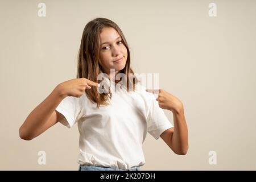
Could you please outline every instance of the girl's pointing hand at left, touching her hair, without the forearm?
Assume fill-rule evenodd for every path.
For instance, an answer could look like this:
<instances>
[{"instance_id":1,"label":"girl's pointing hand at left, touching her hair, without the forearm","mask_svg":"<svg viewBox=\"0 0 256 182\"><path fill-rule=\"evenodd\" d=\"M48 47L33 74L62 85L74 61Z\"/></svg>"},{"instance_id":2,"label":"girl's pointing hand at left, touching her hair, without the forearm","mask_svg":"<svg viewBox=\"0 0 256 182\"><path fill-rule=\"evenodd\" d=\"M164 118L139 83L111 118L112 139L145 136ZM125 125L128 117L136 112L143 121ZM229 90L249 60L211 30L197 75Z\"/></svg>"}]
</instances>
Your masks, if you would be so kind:
<instances>
[{"instance_id":1,"label":"girl's pointing hand at left, touching her hair, without the forearm","mask_svg":"<svg viewBox=\"0 0 256 182\"><path fill-rule=\"evenodd\" d=\"M86 78L74 78L60 83L56 88L61 96L65 98L67 96L81 97L85 89L91 89L91 86L99 87L100 84Z\"/></svg>"}]
</instances>

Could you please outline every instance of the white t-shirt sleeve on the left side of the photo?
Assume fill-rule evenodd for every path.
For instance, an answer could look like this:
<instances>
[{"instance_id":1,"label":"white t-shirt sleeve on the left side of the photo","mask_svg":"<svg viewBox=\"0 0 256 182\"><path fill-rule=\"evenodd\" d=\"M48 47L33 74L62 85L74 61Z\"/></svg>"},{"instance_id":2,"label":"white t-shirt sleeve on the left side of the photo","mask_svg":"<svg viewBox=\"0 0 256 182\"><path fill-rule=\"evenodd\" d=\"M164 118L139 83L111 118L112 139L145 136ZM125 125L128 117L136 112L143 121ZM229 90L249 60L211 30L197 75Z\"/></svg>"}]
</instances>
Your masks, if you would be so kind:
<instances>
[{"instance_id":1,"label":"white t-shirt sleeve on the left side of the photo","mask_svg":"<svg viewBox=\"0 0 256 182\"><path fill-rule=\"evenodd\" d=\"M64 126L71 128L82 116L83 110L83 97L65 97L60 104L56 107L56 111L64 115L64 118L59 121Z\"/></svg>"}]
</instances>

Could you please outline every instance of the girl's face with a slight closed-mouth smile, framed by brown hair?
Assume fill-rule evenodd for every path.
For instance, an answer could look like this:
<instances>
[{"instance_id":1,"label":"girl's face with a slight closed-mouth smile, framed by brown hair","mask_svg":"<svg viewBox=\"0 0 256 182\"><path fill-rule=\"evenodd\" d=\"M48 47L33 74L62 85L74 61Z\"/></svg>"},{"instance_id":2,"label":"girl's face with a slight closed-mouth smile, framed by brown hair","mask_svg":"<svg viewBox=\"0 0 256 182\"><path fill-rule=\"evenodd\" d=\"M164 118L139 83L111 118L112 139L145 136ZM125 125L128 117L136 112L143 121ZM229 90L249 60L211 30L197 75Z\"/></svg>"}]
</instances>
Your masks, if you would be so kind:
<instances>
[{"instance_id":1,"label":"girl's face with a slight closed-mouth smile, framed by brown hair","mask_svg":"<svg viewBox=\"0 0 256 182\"><path fill-rule=\"evenodd\" d=\"M112 27L102 28L100 34L100 62L106 74L115 69L115 74L125 68L127 49L121 36Z\"/></svg>"}]
</instances>

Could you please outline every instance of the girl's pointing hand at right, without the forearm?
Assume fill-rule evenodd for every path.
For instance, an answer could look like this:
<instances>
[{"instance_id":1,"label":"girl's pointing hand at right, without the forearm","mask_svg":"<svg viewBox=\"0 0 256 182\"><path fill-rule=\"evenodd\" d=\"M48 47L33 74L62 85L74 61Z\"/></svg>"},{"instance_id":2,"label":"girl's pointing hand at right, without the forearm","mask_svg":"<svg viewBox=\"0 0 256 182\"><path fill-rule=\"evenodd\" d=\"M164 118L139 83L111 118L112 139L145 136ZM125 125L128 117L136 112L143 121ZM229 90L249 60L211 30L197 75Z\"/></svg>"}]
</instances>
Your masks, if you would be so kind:
<instances>
[{"instance_id":1,"label":"girl's pointing hand at right, without the forearm","mask_svg":"<svg viewBox=\"0 0 256 182\"><path fill-rule=\"evenodd\" d=\"M156 101L158 101L158 105L162 109L168 109L172 112L175 111L176 113L179 113L179 111L183 109L182 102L177 97L163 89L146 89L146 91L150 93L158 93Z\"/></svg>"}]
</instances>

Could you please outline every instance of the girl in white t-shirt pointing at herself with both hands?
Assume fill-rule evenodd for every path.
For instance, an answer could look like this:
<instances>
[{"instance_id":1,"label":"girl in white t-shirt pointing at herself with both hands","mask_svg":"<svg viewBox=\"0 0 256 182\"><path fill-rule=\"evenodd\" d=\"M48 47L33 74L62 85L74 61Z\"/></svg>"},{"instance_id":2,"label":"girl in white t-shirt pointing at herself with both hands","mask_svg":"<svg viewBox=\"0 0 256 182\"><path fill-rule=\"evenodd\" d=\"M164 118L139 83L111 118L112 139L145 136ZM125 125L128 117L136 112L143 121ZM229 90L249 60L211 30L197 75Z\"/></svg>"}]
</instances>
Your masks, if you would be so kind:
<instances>
[{"instance_id":1,"label":"girl in white t-shirt pointing at herself with both hands","mask_svg":"<svg viewBox=\"0 0 256 182\"><path fill-rule=\"evenodd\" d=\"M77 78L57 85L28 115L20 138L31 140L57 122L69 128L77 122L81 171L139 170L145 164L147 132L161 137L175 154L187 153L183 104L165 90L146 89L137 77L131 79L129 47L112 20L96 18L86 24L77 65ZM122 81L115 79L119 73ZM172 111L174 126L162 109Z\"/></svg>"}]
</instances>

